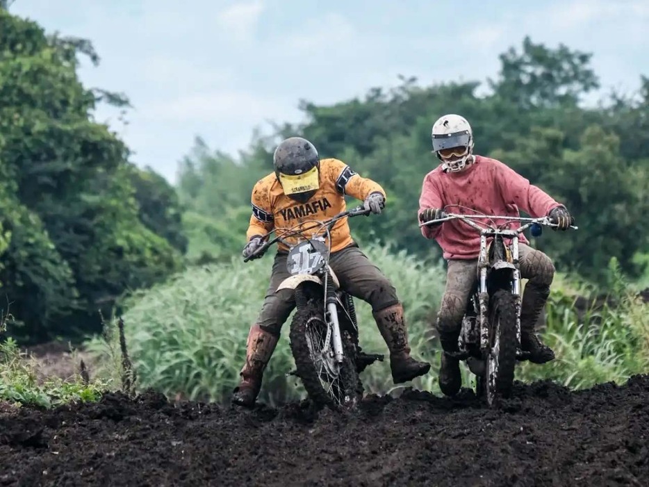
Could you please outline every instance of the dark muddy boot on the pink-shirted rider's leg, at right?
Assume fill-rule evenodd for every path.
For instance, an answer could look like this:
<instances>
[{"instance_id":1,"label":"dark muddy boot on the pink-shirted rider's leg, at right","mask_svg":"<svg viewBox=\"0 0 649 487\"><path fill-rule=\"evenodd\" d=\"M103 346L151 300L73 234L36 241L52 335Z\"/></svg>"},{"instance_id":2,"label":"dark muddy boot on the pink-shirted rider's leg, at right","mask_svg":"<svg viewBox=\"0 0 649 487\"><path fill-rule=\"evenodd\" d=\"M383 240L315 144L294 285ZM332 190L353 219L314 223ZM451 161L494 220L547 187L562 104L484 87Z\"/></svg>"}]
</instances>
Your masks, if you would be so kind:
<instances>
[{"instance_id":1,"label":"dark muddy boot on the pink-shirted rider's leg, at right","mask_svg":"<svg viewBox=\"0 0 649 487\"><path fill-rule=\"evenodd\" d=\"M529 361L545 363L554 360L554 352L534 333L536 322L550 295L550 286L528 281L520 305L520 348L529 352Z\"/></svg>"}]
</instances>

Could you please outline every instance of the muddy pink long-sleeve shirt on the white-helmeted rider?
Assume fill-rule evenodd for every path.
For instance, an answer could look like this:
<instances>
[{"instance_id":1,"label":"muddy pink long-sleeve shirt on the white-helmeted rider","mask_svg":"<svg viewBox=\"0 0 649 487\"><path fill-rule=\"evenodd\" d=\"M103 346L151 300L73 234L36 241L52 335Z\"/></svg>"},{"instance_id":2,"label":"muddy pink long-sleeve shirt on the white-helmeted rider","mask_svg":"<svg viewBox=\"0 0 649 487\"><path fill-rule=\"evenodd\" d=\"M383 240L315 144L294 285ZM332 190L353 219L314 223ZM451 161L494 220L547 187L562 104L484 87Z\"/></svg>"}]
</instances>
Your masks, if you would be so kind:
<instances>
[{"instance_id":1,"label":"muddy pink long-sleeve shirt on the white-helmeted rider","mask_svg":"<svg viewBox=\"0 0 649 487\"><path fill-rule=\"evenodd\" d=\"M536 218L556 206L561 205L500 160L484 156L475 156L475 162L462 172L443 172L441 166L436 167L426 174L419 198L419 213L426 208L447 207L448 213L518 217L521 208ZM477 222L491 224L486 219ZM504 222L495 220L496 224ZM510 229L519 227L518 222L509 224ZM460 220L422 226L421 232L425 238L437 241L445 259L468 260L479 255L479 232ZM518 241L527 243L523 234Z\"/></svg>"}]
</instances>

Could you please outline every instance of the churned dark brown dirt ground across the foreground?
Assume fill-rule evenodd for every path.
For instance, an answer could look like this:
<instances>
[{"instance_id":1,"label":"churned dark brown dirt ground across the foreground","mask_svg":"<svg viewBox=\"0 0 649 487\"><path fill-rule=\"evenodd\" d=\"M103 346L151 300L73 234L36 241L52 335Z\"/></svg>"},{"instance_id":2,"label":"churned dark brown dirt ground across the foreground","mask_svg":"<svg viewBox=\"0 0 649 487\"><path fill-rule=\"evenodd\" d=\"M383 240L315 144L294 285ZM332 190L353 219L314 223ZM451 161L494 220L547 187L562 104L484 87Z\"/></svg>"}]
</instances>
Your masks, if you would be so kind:
<instances>
[{"instance_id":1,"label":"churned dark brown dirt ground across the foreground","mask_svg":"<svg viewBox=\"0 0 649 487\"><path fill-rule=\"evenodd\" d=\"M649 376L517 384L496 410L409 390L346 417L111 394L0 413L0 486L646 486L648 445Z\"/></svg>"}]
</instances>

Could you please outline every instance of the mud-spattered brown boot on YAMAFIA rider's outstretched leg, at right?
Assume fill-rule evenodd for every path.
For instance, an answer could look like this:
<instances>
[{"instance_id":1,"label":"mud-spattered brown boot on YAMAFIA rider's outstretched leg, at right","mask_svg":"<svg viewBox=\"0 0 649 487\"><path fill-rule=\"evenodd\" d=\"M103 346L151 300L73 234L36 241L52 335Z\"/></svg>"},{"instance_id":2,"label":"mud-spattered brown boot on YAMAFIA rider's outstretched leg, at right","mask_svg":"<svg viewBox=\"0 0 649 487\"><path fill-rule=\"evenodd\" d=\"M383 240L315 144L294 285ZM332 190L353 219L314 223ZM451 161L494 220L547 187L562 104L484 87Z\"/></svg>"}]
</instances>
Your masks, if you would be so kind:
<instances>
[{"instance_id":1,"label":"mud-spattered brown boot on YAMAFIA rider's outstretched leg, at right","mask_svg":"<svg viewBox=\"0 0 649 487\"><path fill-rule=\"evenodd\" d=\"M397 303L373 312L381 336L390 350L390 369L394 383L411 381L430 370L430 364L410 356L408 330L404 320L403 306Z\"/></svg>"}]
</instances>

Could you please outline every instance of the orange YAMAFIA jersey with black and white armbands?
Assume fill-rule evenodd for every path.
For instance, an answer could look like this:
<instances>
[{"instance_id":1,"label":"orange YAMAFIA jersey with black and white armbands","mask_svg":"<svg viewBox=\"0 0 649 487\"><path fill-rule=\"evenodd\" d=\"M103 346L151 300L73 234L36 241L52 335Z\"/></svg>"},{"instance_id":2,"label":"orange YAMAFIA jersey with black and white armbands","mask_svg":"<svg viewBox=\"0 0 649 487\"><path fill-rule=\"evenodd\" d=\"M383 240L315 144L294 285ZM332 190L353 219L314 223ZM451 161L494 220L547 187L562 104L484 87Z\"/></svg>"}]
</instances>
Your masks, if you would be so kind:
<instances>
[{"instance_id":1,"label":"orange YAMAFIA jersey with black and white armbands","mask_svg":"<svg viewBox=\"0 0 649 487\"><path fill-rule=\"evenodd\" d=\"M362 201L372 192L386 196L381 185L361 177L343 161L334 158L320 160L320 188L304 204L286 196L272 172L257 181L252 189L252 215L246 232L247 240L253 236L265 236L273 229L281 232L281 229L290 229L304 222L304 234L311 237L317 228L306 230L313 226L309 220L327 220L345 211L345 195ZM324 236L322 231L320 236ZM295 245L298 236L285 240ZM344 249L353 242L347 218L338 220L331 229L331 251ZM281 242L278 245L281 250L288 251L286 245Z\"/></svg>"}]
</instances>

